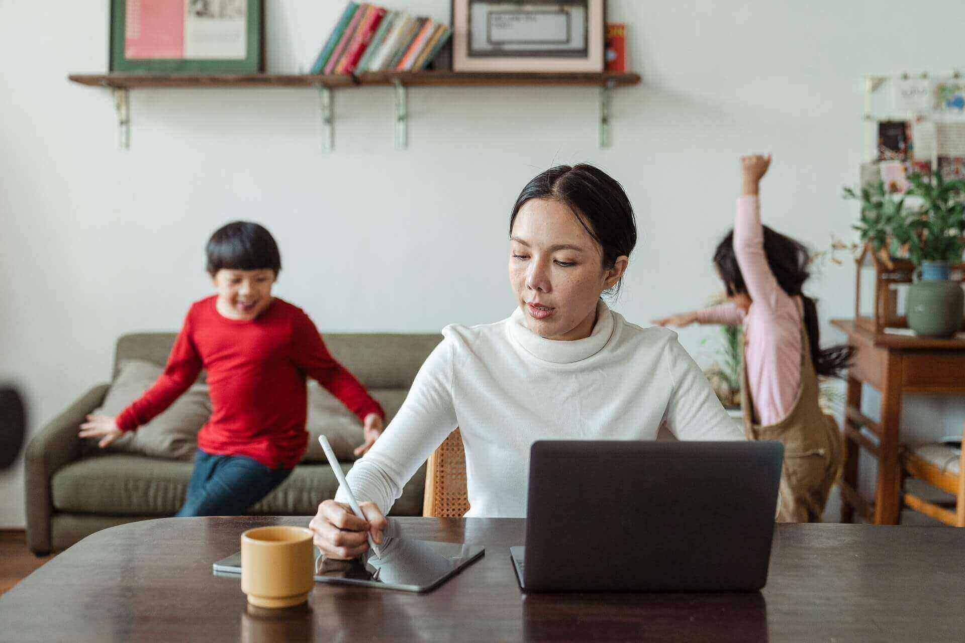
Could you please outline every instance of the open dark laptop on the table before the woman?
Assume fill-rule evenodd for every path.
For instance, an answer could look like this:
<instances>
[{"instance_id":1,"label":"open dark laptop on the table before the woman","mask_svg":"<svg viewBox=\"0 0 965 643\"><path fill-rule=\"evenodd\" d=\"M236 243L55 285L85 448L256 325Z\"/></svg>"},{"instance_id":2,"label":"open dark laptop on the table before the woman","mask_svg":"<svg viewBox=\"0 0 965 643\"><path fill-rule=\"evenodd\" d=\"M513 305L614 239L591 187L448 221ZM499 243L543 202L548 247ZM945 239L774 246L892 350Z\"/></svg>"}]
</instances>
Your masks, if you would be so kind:
<instances>
[{"instance_id":1,"label":"open dark laptop on the table before the woman","mask_svg":"<svg viewBox=\"0 0 965 643\"><path fill-rule=\"evenodd\" d=\"M783 458L781 442L535 442L519 586L757 591Z\"/></svg>"}]
</instances>

